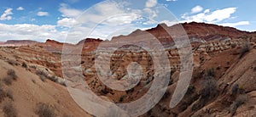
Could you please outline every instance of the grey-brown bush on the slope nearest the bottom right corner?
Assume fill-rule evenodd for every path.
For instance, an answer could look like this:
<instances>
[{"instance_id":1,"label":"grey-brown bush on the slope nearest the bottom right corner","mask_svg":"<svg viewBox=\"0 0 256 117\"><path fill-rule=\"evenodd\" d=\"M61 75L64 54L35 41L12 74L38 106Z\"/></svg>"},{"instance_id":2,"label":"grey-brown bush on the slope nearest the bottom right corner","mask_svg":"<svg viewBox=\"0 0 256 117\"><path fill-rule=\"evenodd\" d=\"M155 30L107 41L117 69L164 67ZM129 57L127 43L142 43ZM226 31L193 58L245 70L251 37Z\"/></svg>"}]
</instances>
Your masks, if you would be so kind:
<instances>
[{"instance_id":1,"label":"grey-brown bush on the slope nearest the bottom right corner","mask_svg":"<svg viewBox=\"0 0 256 117\"><path fill-rule=\"evenodd\" d=\"M230 114L234 115L236 114L236 109L238 109L241 104L245 103L247 101L247 95L243 94L243 95L239 95L238 97L236 97L236 101L234 101L231 105L230 105Z\"/></svg>"}]
</instances>

